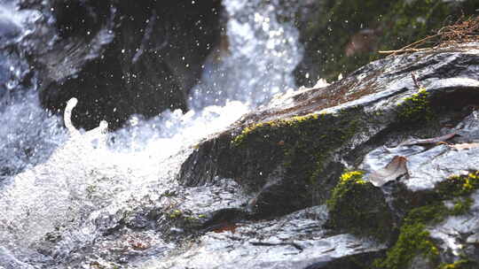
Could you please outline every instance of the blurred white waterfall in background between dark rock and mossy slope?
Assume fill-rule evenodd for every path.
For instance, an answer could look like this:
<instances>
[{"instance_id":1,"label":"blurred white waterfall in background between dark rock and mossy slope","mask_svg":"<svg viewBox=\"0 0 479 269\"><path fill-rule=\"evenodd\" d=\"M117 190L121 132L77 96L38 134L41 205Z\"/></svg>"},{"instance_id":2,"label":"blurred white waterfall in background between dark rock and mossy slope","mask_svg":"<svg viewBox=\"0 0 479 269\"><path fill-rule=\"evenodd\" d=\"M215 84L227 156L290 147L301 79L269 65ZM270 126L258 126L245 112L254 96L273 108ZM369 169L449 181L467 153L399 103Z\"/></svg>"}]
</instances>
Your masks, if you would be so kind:
<instances>
[{"instance_id":1,"label":"blurred white waterfall in background between dark rock and mossy slope","mask_svg":"<svg viewBox=\"0 0 479 269\"><path fill-rule=\"evenodd\" d=\"M225 0L227 40L205 64L190 105L201 109L228 100L255 107L295 88L293 71L301 61L295 9L279 1ZM280 22L281 15L284 22Z\"/></svg>"}]
</instances>

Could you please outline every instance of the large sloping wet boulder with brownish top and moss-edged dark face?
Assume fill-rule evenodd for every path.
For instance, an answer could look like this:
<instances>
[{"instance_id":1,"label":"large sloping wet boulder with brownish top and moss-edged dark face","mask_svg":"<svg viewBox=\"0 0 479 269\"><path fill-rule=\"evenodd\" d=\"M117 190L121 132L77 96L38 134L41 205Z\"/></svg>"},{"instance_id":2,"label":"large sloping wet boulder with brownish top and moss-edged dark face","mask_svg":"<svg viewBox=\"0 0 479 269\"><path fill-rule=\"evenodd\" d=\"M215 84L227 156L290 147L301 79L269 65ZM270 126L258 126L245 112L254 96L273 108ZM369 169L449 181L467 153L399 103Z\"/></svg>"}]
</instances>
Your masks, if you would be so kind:
<instances>
[{"instance_id":1,"label":"large sloping wet boulder with brownish top and moss-edged dark face","mask_svg":"<svg viewBox=\"0 0 479 269\"><path fill-rule=\"evenodd\" d=\"M470 112L478 97L470 66L478 58L475 50L450 50L386 58L326 88L276 100L200 143L180 181L194 186L219 175L258 193L284 186L291 200L278 204L280 211L304 207L318 184L318 202L325 201L343 169L359 165L368 151L407 135L440 134L441 121L452 118L453 126L452 113Z\"/></svg>"}]
</instances>

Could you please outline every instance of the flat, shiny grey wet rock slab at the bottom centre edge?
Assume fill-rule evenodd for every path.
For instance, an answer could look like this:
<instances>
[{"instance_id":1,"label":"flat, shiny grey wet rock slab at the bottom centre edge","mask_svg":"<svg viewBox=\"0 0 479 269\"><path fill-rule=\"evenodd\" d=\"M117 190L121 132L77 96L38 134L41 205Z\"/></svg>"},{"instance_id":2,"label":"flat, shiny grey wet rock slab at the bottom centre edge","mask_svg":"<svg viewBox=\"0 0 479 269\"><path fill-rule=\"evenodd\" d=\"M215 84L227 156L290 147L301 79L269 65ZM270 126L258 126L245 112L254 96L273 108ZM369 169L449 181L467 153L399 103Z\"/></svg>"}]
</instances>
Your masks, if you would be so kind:
<instances>
[{"instance_id":1,"label":"flat, shiny grey wet rock slab at the bottom centre edge","mask_svg":"<svg viewBox=\"0 0 479 269\"><path fill-rule=\"evenodd\" d=\"M321 227L325 217L326 208L318 206L211 232L157 268L355 268L384 250L381 244L350 234L326 235ZM332 261L337 265L331 267Z\"/></svg>"}]
</instances>

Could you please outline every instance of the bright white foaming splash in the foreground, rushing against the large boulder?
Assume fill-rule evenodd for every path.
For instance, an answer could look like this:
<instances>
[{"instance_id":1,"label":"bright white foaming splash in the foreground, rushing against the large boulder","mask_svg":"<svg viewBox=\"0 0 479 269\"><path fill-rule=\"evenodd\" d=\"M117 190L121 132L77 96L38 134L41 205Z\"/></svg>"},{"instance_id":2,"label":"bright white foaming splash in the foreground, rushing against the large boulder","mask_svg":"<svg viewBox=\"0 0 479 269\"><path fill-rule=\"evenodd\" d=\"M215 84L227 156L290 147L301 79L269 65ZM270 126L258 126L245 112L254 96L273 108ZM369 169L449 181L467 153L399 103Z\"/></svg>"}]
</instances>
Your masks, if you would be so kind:
<instances>
[{"instance_id":1,"label":"bright white foaming splash in the foreground, rushing against the large boulder","mask_svg":"<svg viewBox=\"0 0 479 269\"><path fill-rule=\"evenodd\" d=\"M75 99L70 100L65 111L68 141L47 162L16 175L0 192L0 207L5 209L0 213L0 245L17 257L34 255L31 246L59 229L66 232L61 247L55 248L57 255L92 242L105 229L105 225L98 227L98 221L116 216L106 226L116 225L121 219L118 216L132 206L127 200L154 196L171 187L174 173L187 156L173 158L178 151L227 127L247 111L237 102L208 107L197 114L177 111L144 121L120 133L125 132L125 138L132 135L138 142L142 139L134 134L153 135L151 124L161 122L165 136L146 140L143 150L123 148L119 152L105 146L106 122L86 133L72 125L69 117L75 104ZM169 132L174 135L166 135Z\"/></svg>"}]
</instances>

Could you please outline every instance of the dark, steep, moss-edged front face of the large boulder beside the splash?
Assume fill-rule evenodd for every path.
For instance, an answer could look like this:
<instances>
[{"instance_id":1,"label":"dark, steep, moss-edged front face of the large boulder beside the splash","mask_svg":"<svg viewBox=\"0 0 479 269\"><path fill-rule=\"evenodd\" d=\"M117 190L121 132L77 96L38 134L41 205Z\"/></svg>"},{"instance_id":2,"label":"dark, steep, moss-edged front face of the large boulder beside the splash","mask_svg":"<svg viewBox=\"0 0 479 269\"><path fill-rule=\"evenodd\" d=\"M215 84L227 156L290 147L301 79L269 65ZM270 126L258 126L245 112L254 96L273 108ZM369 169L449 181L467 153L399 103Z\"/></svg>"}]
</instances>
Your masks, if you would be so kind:
<instances>
[{"instance_id":1,"label":"dark, steep, moss-edged front face of the large boulder beside the splash","mask_svg":"<svg viewBox=\"0 0 479 269\"><path fill-rule=\"evenodd\" d=\"M344 169L334 156L364 137L370 119L355 106L243 125L202 142L179 178L189 186L232 178L264 217L322 204Z\"/></svg>"}]
</instances>

